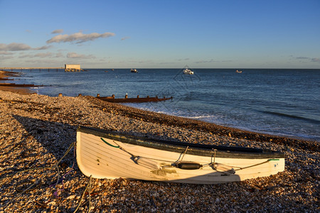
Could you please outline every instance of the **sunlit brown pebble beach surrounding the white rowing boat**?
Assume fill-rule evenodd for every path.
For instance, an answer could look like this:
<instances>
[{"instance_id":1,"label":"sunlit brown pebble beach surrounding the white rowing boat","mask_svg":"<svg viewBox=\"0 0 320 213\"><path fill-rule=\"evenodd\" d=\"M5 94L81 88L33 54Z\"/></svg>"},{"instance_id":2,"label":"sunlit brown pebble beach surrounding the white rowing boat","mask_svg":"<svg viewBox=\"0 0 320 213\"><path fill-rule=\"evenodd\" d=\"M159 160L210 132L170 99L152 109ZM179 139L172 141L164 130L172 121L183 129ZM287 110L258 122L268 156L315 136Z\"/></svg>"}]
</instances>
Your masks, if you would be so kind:
<instances>
[{"instance_id":1,"label":"sunlit brown pebble beach surrounding the white rowing boat","mask_svg":"<svg viewBox=\"0 0 320 213\"><path fill-rule=\"evenodd\" d=\"M161 140L268 148L286 155L285 170L218 185L90 179L75 160L79 126ZM0 156L0 213L320 212L319 141L240 131L94 97L0 90Z\"/></svg>"}]
</instances>

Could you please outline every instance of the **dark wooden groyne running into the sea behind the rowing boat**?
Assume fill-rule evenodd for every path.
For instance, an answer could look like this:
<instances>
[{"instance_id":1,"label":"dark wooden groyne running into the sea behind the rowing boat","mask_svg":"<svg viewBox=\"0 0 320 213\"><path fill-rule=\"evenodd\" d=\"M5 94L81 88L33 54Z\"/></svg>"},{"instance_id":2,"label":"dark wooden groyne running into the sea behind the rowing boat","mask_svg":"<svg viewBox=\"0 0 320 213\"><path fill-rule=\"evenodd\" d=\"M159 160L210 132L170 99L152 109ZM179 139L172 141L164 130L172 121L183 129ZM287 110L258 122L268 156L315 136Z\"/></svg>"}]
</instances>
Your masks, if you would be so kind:
<instances>
[{"instance_id":1,"label":"dark wooden groyne running into the sea behind the rowing boat","mask_svg":"<svg viewBox=\"0 0 320 213\"><path fill-rule=\"evenodd\" d=\"M97 99L100 99L105 102L112 102L112 103L142 103L142 102L163 102L169 99L173 99L173 97L139 97L139 95L136 98L128 98L128 95L120 99L116 99L114 97L114 94L112 94L111 97L100 97L100 94L97 94Z\"/></svg>"}]
</instances>

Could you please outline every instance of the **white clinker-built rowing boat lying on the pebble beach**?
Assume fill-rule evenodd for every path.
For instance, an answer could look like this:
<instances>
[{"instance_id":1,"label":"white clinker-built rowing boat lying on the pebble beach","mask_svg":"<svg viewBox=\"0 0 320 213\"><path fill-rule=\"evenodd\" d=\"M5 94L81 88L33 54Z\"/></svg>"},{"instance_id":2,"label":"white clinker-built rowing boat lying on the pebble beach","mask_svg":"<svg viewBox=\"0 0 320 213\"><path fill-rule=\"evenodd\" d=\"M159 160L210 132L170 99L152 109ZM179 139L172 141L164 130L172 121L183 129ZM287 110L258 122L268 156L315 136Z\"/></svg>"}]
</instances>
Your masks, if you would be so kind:
<instances>
[{"instance_id":1,"label":"white clinker-built rowing boat lying on the pebble beach","mask_svg":"<svg viewBox=\"0 0 320 213\"><path fill-rule=\"evenodd\" d=\"M77 162L92 178L216 184L284 171L284 154L256 148L160 141L80 127Z\"/></svg>"}]
</instances>

